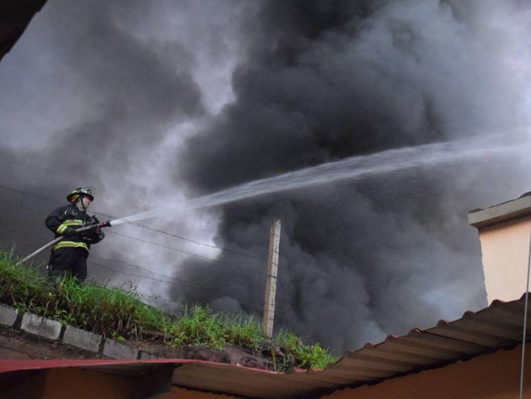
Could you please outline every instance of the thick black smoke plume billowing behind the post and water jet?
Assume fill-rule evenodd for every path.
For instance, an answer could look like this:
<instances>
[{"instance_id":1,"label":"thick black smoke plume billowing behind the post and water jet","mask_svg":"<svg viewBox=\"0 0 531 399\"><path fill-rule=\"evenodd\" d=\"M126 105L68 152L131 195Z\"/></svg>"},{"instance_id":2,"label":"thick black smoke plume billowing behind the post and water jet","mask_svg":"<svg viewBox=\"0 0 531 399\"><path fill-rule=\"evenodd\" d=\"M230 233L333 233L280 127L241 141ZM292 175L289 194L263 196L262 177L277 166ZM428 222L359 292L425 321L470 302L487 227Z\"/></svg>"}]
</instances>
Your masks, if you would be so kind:
<instances>
[{"instance_id":1,"label":"thick black smoke plume billowing behind the post and water jet","mask_svg":"<svg viewBox=\"0 0 531 399\"><path fill-rule=\"evenodd\" d=\"M499 48L510 37L489 25L493 7L262 3L233 74L236 100L188 140L179 175L199 195L351 155L519 127L521 97ZM218 244L263 253L271 220L282 220L277 327L336 349L427 327L486 304L467 211L499 201L501 190L526 191L521 166L484 161L229 204ZM234 257L221 259L232 266L188 264L188 277L213 281L194 297L259 313L260 282Z\"/></svg>"}]
</instances>

